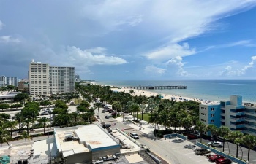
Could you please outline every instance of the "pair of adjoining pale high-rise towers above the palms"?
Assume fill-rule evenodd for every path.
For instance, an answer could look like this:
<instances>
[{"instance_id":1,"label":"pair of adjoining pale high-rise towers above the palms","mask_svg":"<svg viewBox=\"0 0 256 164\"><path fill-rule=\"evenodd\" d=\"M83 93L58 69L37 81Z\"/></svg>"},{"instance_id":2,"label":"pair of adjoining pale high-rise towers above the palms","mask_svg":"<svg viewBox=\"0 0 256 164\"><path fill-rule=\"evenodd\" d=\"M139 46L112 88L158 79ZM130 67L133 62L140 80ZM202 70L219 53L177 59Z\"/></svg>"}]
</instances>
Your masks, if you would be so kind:
<instances>
[{"instance_id":1,"label":"pair of adjoining pale high-rise towers above the palms","mask_svg":"<svg viewBox=\"0 0 256 164\"><path fill-rule=\"evenodd\" d=\"M29 64L29 93L51 95L75 90L75 67L49 66L46 63Z\"/></svg>"}]
</instances>

